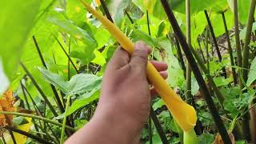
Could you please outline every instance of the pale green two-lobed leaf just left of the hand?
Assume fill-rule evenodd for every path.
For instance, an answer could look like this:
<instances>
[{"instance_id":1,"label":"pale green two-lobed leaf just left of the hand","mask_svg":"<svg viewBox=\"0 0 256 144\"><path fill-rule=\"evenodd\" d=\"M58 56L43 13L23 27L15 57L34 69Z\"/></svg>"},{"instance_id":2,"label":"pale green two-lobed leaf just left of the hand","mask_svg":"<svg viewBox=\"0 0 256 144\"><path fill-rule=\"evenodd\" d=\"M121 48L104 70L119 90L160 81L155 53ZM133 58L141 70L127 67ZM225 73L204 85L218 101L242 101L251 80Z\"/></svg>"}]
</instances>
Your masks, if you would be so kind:
<instances>
[{"instance_id":1,"label":"pale green two-lobed leaf just left of the hand","mask_svg":"<svg viewBox=\"0 0 256 144\"><path fill-rule=\"evenodd\" d=\"M64 78L58 74L50 73L49 70L42 67L38 67L38 69L41 71L46 82L50 82L58 87L64 94L78 94L81 96L91 90L99 89L102 82L102 77L98 77L94 74L76 74L69 82L66 82Z\"/></svg>"}]
</instances>

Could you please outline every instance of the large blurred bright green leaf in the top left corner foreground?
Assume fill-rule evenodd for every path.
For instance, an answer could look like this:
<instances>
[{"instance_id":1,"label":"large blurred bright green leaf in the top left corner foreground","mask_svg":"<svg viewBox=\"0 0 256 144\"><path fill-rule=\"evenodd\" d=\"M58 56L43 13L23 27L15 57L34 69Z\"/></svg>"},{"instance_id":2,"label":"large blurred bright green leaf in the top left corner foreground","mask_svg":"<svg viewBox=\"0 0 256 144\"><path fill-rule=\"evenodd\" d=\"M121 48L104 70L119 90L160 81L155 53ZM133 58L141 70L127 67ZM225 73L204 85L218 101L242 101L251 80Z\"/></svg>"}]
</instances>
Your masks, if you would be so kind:
<instances>
[{"instance_id":1,"label":"large blurred bright green leaf in the top left corner foreground","mask_svg":"<svg viewBox=\"0 0 256 144\"><path fill-rule=\"evenodd\" d=\"M0 58L8 78L14 74L26 38L34 26L39 0L2 1L0 6Z\"/></svg>"}]
</instances>

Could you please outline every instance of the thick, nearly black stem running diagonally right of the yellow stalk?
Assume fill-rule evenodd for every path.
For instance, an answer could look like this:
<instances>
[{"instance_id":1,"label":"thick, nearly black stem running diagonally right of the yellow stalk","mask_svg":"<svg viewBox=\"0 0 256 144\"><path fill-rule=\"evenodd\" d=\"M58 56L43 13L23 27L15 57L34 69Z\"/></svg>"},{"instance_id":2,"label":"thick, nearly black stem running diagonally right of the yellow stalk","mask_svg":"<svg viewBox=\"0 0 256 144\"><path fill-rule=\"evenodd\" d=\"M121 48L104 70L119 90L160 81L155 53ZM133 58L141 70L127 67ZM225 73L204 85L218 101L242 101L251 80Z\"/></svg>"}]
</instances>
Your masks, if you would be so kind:
<instances>
[{"instance_id":1,"label":"thick, nearly black stem running diagonally right of the yellow stalk","mask_svg":"<svg viewBox=\"0 0 256 144\"><path fill-rule=\"evenodd\" d=\"M194 76L198 81L198 85L200 86L202 95L204 96L204 98L206 100L206 103L210 110L210 113L212 114L212 116L214 118L214 122L218 128L218 131L219 131L220 135L222 136L222 140L226 144L231 144L232 142L230 141L230 137L226 131L226 127L224 126L222 119L221 119L220 115L218 114L218 110L214 106L214 101L210 96L210 93L209 93L209 90L207 89L206 83L205 83L204 79L202 78L202 74L201 74L200 70L198 69L198 66L194 60L193 55L191 54L190 46L186 43L186 38L184 37L184 35L182 34L182 30L178 26L178 22L177 22L176 18L174 17L174 14L173 14L172 10L170 9L168 2L166 0L161 0L161 2L162 2L162 6L164 7L164 9L166 11L167 17L169 18L170 24L173 27L174 33L178 36L179 42L182 45L182 49L183 49L184 53L186 54L186 58L190 62L191 69L193 70Z\"/></svg>"}]
</instances>

